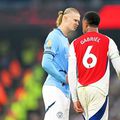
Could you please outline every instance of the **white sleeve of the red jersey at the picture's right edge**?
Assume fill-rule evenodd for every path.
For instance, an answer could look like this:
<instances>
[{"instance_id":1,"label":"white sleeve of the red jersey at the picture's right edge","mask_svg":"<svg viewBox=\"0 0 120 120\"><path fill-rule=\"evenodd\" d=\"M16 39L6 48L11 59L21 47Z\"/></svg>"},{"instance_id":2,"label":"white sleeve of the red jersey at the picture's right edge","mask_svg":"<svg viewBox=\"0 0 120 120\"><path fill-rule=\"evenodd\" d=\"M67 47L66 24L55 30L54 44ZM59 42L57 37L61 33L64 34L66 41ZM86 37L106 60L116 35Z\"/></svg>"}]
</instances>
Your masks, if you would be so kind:
<instances>
[{"instance_id":1,"label":"white sleeve of the red jersey at the picture's right edge","mask_svg":"<svg viewBox=\"0 0 120 120\"><path fill-rule=\"evenodd\" d=\"M110 39L108 56L111 59L114 69L117 72L118 78L120 79L120 55L115 42Z\"/></svg>"}]
</instances>

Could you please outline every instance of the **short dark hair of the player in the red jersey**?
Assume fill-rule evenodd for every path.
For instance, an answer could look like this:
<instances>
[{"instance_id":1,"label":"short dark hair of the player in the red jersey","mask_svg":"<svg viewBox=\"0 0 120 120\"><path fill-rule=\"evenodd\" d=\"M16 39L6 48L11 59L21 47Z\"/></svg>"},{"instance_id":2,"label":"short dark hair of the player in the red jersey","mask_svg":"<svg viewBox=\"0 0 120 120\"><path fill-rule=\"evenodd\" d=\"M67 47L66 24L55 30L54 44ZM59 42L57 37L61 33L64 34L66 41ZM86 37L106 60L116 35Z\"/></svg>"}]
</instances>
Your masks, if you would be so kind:
<instances>
[{"instance_id":1,"label":"short dark hair of the player in the red jersey","mask_svg":"<svg viewBox=\"0 0 120 120\"><path fill-rule=\"evenodd\" d=\"M86 20L90 26L98 27L100 16L97 12L89 11L84 14L83 20Z\"/></svg>"}]
</instances>

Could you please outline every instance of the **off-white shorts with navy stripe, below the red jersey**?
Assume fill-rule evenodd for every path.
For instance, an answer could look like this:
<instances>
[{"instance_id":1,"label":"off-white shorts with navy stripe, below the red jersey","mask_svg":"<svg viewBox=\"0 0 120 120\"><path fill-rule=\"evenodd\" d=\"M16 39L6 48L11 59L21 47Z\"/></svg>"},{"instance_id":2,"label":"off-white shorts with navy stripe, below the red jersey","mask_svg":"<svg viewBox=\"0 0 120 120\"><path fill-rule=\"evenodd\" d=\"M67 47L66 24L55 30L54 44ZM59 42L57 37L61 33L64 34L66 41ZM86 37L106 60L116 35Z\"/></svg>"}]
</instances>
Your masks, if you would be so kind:
<instances>
[{"instance_id":1,"label":"off-white shorts with navy stripe, below the red jersey","mask_svg":"<svg viewBox=\"0 0 120 120\"><path fill-rule=\"evenodd\" d=\"M108 120L109 98L100 89L92 86L77 89L79 100L84 108L85 120Z\"/></svg>"}]
</instances>

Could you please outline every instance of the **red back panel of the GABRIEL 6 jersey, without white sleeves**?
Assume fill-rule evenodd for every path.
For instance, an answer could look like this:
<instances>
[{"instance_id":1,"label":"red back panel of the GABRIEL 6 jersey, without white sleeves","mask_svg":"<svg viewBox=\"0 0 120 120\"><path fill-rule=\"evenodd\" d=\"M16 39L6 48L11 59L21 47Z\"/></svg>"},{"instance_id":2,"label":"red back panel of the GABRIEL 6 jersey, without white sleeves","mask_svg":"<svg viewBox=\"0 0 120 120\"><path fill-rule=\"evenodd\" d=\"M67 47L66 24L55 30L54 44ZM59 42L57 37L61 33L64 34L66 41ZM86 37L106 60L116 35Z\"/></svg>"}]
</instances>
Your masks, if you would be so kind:
<instances>
[{"instance_id":1,"label":"red back panel of the GABRIEL 6 jersey, without white sleeves","mask_svg":"<svg viewBox=\"0 0 120 120\"><path fill-rule=\"evenodd\" d=\"M97 32L87 32L77 38L73 45L79 83L86 86L99 81L107 69L109 38Z\"/></svg>"}]
</instances>

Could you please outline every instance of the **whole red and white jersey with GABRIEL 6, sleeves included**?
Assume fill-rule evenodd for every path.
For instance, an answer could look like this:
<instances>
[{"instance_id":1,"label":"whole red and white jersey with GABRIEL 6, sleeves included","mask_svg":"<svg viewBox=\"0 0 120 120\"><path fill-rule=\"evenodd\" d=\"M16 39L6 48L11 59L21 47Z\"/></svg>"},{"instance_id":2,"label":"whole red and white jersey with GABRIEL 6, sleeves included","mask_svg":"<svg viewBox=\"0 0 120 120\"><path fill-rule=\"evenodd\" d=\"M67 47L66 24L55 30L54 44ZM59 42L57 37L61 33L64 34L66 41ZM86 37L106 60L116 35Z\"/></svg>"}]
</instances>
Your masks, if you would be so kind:
<instances>
[{"instance_id":1,"label":"whole red and white jersey with GABRIEL 6, sleeves included","mask_svg":"<svg viewBox=\"0 0 120 120\"><path fill-rule=\"evenodd\" d=\"M68 80L75 90L80 86L95 86L104 94L109 89L109 59L120 73L120 56L115 42L98 32L87 32L70 45ZM117 65L119 63L119 65ZM74 91L73 90L73 91ZM75 93L75 91L74 91Z\"/></svg>"}]
</instances>

